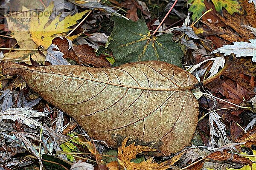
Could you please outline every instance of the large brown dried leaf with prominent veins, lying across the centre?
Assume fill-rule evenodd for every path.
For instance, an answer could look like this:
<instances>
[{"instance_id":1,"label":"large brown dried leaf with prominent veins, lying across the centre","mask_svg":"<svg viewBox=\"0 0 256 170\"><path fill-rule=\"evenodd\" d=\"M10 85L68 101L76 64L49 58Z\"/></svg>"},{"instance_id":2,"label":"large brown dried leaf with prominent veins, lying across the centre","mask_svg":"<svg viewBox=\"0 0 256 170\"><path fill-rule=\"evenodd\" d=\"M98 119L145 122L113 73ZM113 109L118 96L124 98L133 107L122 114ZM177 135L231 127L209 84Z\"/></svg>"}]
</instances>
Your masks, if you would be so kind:
<instances>
[{"instance_id":1,"label":"large brown dried leaf with prominent veins, lying across the centre","mask_svg":"<svg viewBox=\"0 0 256 170\"><path fill-rule=\"evenodd\" d=\"M20 75L90 136L113 147L128 136L168 155L187 146L197 126L198 101L191 91L175 91L197 79L166 62L134 62L116 68L26 67L6 62L3 74Z\"/></svg>"}]
</instances>

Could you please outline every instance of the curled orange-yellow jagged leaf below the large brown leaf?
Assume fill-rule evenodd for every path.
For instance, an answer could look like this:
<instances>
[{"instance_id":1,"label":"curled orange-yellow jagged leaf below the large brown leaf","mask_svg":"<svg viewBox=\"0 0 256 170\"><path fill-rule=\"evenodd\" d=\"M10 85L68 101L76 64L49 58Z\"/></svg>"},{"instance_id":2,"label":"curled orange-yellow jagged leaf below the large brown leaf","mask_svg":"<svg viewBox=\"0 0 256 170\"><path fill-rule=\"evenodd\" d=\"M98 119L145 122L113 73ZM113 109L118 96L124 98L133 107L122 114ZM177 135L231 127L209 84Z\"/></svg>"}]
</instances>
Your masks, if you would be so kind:
<instances>
[{"instance_id":1,"label":"curled orange-yellow jagged leaf below the large brown leaf","mask_svg":"<svg viewBox=\"0 0 256 170\"><path fill-rule=\"evenodd\" d=\"M125 147L127 141L128 138L125 138L122 142L122 146L118 148L118 162L110 162L107 164L109 170L118 170L119 166L122 166L122 168L126 170L166 170L170 167L167 162L160 164L152 163L153 158L142 161L139 164L131 162L132 159L136 159L136 155L139 153L157 150L148 146L135 146L135 142Z\"/></svg>"}]
</instances>

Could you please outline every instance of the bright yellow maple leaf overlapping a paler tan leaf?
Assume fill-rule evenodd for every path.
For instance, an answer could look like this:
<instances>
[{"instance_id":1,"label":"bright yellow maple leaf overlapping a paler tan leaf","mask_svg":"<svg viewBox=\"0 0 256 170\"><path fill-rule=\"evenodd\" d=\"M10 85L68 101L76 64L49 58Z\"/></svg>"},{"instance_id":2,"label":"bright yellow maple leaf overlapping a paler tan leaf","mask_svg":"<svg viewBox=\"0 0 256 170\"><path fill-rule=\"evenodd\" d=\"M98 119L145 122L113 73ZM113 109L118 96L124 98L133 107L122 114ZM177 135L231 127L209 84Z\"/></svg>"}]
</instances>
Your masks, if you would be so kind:
<instances>
[{"instance_id":1,"label":"bright yellow maple leaf overlapping a paler tan leaf","mask_svg":"<svg viewBox=\"0 0 256 170\"><path fill-rule=\"evenodd\" d=\"M90 10L85 10L80 13L74 14L73 16L67 16L64 20L59 21L59 16L55 17L54 20L47 26L49 22L49 14L52 12L53 3L44 9L38 19L32 20L30 23L29 32L31 34L31 39L37 44L42 45L47 48L51 45L53 36L55 34L61 34L70 30L70 26L76 24L76 21L81 19L84 14ZM59 36L59 35L56 35Z\"/></svg>"}]
</instances>

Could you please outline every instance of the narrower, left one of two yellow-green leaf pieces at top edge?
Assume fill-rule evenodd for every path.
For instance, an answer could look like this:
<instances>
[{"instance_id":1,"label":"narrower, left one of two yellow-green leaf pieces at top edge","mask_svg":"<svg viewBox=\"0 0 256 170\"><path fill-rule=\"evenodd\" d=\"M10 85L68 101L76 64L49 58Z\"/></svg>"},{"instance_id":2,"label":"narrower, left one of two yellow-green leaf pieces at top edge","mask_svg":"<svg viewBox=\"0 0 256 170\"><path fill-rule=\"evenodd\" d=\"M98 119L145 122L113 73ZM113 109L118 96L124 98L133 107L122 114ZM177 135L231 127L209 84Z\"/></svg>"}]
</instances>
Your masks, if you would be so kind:
<instances>
[{"instance_id":1,"label":"narrower, left one of two yellow-green leaf pieces at top edge","mask_svg":"<svg viewBox=\"0 0 256 170\"><path fill-rule=\"evenodd\" d=\"M206 10L204 0L189 0L188 3L192 3L192 5L189 7L189 12L193 12L191 18L195 21L202 15L202 12Z\"/></svg>"}]
</instances>

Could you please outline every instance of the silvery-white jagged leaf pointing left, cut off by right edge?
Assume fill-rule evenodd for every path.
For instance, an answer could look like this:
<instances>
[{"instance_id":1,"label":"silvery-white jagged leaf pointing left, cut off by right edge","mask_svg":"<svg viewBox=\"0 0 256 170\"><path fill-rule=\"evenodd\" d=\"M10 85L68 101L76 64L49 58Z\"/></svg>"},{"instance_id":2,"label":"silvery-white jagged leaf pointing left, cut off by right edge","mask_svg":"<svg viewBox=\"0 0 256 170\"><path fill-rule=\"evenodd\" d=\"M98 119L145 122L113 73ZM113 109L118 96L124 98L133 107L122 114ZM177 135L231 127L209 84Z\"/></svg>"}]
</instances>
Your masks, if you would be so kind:
<instances>
[{"instance_id":1,"label":"silvery-white jagged leaf pointing left, cut off by right edge","mask_svg":"<svg viewBox=\"0 0 256 170\"><path fill-rule=\"evenodd\" d=\"M252 61L256 62L256 39L249 40L250 42L233 42L234 45L224 45L218 48L213 53L224 53L224 56L230 55L231 53L236 54L236 57L252 56Z\"/></svg>"}]
</instances>

